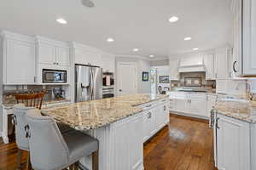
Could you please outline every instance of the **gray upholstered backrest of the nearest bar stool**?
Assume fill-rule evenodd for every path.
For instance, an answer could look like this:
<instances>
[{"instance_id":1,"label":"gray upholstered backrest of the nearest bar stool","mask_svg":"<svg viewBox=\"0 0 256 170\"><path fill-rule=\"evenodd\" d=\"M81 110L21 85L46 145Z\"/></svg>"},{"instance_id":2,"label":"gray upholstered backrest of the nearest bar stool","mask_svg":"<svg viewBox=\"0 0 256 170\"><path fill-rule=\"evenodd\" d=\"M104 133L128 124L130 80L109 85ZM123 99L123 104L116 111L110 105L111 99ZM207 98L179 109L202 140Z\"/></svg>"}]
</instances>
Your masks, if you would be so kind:
<instances>
[{"instance_id":1,"label":"gray upholstered backrest of the nearest bar stool","mask_svg":"<svg viewBox=\"0 0 256 170\"><path fill-rule=\"evenodd\" d=\"M32 110L27 111L26 120L32 167L60 169L69 159L69 150L56 122L49 116L38 116Z\"/></svg>"}]
</instances>

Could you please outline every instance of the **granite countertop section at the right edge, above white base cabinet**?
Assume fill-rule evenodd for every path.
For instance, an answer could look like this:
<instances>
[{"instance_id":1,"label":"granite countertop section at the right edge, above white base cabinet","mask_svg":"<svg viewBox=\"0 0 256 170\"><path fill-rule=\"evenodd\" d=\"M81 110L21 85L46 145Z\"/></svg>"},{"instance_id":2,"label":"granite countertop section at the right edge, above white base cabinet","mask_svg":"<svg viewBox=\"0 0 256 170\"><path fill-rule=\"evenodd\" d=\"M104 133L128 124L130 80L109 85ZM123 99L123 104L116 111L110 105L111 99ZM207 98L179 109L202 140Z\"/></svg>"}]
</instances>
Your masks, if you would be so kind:
<instances>
[{"instance_id":1,"label":"granite countertop section at the right edge, above white base cabinet","mask_svg":"<svg viewBox=\"0 0 256 170\"><path fill-rule=\"evenodd\" d=\"M219 99L215 105L219 114L256 123L256 102L244 99Z\"/></svg>"}]
</instances>

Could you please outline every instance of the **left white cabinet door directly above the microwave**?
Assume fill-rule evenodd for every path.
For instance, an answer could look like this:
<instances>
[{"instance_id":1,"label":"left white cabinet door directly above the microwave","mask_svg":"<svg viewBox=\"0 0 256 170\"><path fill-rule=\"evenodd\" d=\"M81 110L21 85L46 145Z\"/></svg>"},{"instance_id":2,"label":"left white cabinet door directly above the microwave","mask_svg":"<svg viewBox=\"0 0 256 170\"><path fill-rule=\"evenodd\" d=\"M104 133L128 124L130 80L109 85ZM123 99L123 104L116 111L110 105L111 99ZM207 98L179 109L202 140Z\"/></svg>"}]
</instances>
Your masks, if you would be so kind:
<instances>
[{"instance_id":1,"label":"left white cabinet door directly above the microwave","mask_svg":"<svg viewBox=\"0 0 256 170\"><path fill-rule=\"evenodd\" d=\"M54 45L39 43L38 45L38 62L41 64L55 65L56 48Z\"/></svg>"}]
</instances>

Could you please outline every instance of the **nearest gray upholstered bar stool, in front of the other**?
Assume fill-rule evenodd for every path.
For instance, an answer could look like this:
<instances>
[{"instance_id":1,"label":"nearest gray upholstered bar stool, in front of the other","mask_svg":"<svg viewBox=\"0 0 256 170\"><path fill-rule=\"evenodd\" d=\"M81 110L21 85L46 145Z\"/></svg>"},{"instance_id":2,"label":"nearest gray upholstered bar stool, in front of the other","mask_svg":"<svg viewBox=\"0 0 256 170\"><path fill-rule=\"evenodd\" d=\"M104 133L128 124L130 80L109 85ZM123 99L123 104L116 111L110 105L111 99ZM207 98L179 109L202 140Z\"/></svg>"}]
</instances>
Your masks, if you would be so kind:
<instances>
[{"instance_id":1,"label":"nearest gray upholstered bar stool, in front of the other","mask_svg":"<svg viewBox=\"0 0 256 170\"><path fill-rule=\"evenodd\" d=\"M91 154L94 155L93 165L98 161L96 139L78 131L61 134L52 118L38 116L35 110L26 112L26 120L30 159L35 170L61 170Z\"/></svg>"}]
</instances>

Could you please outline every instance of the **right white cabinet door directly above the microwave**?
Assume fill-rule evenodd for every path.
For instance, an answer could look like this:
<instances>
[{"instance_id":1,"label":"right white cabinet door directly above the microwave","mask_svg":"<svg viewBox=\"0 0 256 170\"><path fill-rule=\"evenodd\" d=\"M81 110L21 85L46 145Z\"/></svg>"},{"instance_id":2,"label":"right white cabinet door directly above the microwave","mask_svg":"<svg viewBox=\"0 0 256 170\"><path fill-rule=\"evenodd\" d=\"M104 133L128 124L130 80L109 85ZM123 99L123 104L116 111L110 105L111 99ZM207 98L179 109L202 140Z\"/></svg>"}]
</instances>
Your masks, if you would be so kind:
<instances>
[{"instance_id":1,"label":"right white cabinet door directly above the microwave","mask_svg":"<svg viewBox=\"0 0 256 170\"><path fill-rule=\"evenodd\" d=\"M56 53L56 65L68 66L69 65L69 48L58 47Z\"/></svg>"}]
</instances>

